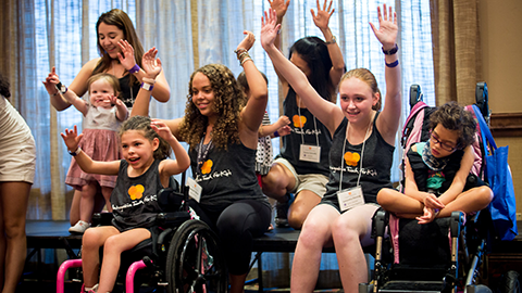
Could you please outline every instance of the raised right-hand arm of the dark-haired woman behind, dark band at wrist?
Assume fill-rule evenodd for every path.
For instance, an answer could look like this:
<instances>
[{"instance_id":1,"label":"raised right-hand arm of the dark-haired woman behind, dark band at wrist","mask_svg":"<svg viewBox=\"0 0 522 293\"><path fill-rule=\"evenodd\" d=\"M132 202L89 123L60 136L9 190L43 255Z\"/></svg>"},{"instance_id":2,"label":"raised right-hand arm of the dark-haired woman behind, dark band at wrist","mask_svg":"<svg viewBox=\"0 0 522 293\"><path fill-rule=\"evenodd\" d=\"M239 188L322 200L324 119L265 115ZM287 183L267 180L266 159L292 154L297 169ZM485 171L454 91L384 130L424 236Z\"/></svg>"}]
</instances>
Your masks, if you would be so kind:
<instances>
[{"instance_id":1,"label":"raised right-hand arm of the dark-haired woman behind, dark band at wrist","mask_svg":"<svg viewBox=\"0 0 522 293\"><path fill-rule=\"evenodd\" d=\"M332 84L334 85L334 87L337 88L340 81L340 77L343 77L343 74L345 74L345 60L343 59L343 53L340 52L340 48L337 43L337 39L334 37L334 35L332 34L332 30L328 27L330 17L335 12L335 9L332 9L332 0L330 1L327 9L326 9L326 0L324 0L323 9L321 9L321 5L319 4L319 0L318 0L318 14L315 15L315 12L313 11L313 9L311 9L310 12L312 13L313 23L319 29L321 29L321 33L323 33L323 36L324 36L324 40L326 41L330 59L332 60L332 69L330 69L330 79L332 80ZM332 98L334 103L335 103L336 97L337 95L334 95Z\"/></svg>"}]
</instances>

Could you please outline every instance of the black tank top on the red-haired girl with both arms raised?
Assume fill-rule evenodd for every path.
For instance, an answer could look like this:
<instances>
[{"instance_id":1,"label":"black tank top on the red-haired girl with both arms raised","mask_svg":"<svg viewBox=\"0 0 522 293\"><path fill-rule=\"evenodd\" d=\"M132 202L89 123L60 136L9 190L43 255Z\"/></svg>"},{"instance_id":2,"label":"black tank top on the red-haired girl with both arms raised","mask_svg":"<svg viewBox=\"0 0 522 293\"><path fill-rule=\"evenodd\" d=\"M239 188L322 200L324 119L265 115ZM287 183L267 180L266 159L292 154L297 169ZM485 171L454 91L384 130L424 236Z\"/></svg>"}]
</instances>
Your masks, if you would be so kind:
<instances>
[{"instance_id":1,"label":"black tank top on the red-haired girl with both arms raised","mask_svg":"<svg viewBox=\"0 0 522 293\"><path fill-rule=\"evenodd\" d=\"M373 130L364 143L362 175L360 186L364 194L365 203L376 203L377 192L382 188L391 188L390 169L394 161L395 146L389 145L381 136L375 126L378 113L373 120ZM361 155L362 143L352 145L346 140L346 127L348 119L345 117L339 127L335 130L332 150L330 152L330 181L326 183L326 193L323 201L328 201L339 206L337 191L339 190L340 163L346 153ZM346 140L346 149L343 150ZM349 157L349 155L348 155ZM343 158L343 183L341 189L353 188L357 186L361 162L353 156L353 161L346 162Z\"/></svg>"}]
</instances>

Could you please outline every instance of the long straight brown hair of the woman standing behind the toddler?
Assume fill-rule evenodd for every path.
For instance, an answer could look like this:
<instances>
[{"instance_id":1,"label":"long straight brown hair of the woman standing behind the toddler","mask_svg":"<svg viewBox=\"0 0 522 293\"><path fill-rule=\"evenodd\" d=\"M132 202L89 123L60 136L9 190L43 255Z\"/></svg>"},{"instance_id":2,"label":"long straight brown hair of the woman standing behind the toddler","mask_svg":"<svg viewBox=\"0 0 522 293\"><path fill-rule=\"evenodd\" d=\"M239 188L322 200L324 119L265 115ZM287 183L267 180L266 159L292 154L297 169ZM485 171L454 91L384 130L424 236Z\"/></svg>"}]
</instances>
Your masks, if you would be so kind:
<instances>
[{"instance_id":1,"label":"long straight brown hair of the woman standing behind the toddler","mask_svg":"<svg viewBox=\"0 0 522 293\"><path fill-rule=\"evenodd\" d=\"M105 13L102 13L100 17L98 17L98 22L96 23L98 52L100 53L101 60L96 65L92 74L105 72L112 63L111 56L105 52L105 50L100 43L100 38L98 37L98 29L100 28L101 23L104 23L107 25L113 25L123 31L123 39L127 40L128 43L134 48L134 59L136 60L136 64L138 64L138 66L141 66L141 58L144 56L145 51L141 42L139 41L138 35L136 34L136 29L134 28L133 21L130 21L127 13L125 13L123 10L112 9ZM128 85L134 85L136 80L136 77L134 76L134 74L132 74Z\"/></svg>"}]
</instances>

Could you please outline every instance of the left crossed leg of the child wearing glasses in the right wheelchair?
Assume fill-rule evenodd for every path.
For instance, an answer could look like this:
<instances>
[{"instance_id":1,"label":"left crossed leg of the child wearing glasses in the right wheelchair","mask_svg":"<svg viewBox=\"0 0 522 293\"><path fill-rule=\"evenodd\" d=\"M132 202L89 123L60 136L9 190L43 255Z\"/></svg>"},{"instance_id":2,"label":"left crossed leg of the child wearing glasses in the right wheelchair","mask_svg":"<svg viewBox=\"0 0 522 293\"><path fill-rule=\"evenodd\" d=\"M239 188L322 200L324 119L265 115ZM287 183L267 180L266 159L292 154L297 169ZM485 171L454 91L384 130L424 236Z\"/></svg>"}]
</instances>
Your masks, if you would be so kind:
<instances>
[{"instance_id":1,"label":"left crossed leg of the child wearing glasses in the right wheelchair","mask_svg":"<svg viewBox=\"0 0 522 293\"><path fill-rule=\"evenodd\" d=\"M381 189L377 193L377 202L384 209L401 214L401 217L414 218L423 214L424 205L421 202L395 189Z\"/></svg>"}]
</instances>

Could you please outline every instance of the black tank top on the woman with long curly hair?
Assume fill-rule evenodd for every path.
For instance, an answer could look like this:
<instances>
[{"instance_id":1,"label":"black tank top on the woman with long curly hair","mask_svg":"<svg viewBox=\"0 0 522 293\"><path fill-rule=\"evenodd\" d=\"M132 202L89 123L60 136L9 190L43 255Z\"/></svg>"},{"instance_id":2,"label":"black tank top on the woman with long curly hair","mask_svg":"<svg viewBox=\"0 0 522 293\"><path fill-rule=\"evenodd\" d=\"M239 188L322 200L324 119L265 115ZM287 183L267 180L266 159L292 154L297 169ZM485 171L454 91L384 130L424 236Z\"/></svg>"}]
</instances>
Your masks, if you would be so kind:
<instances>
[{"instance_id":1,"label":"black tank top on the woman with long curly hair","mask_svg":"<svg viewBox=\"0 0 522 293\"><path fill-rule=\"evenodd\" d=\"M201 188L200 205L211 212L221 212L239 200L257 200L270 206L256 176L256 150L243 143L228 144L228 149L211 146L198 168L198 144L189 152L192 176Z\"/></svg>"}]
</instances>

